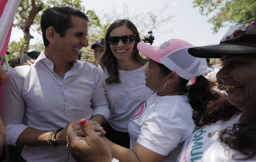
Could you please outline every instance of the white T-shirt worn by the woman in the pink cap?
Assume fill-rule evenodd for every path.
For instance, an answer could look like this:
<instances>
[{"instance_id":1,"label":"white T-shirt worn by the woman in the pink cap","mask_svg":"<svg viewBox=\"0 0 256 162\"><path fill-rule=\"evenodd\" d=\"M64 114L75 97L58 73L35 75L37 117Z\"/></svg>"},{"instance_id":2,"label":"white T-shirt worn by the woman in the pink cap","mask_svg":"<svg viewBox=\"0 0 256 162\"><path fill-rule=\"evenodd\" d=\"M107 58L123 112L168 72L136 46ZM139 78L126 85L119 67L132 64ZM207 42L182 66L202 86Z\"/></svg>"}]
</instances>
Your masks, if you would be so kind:
<instances>
[{"instance_id":1,"label":"white T-shirt worn by the woman in the pink cap","mask_svg":"<svg viewBox=\"0 0 256 162\"><path fill-rule=\"evenodd\" d=\"M166 156L163 162L175 162L182 142L195 128L192 113L186 95L153 94L132 117L128 126L130 149L137 142Z\"/></svg>"}]
</instances>

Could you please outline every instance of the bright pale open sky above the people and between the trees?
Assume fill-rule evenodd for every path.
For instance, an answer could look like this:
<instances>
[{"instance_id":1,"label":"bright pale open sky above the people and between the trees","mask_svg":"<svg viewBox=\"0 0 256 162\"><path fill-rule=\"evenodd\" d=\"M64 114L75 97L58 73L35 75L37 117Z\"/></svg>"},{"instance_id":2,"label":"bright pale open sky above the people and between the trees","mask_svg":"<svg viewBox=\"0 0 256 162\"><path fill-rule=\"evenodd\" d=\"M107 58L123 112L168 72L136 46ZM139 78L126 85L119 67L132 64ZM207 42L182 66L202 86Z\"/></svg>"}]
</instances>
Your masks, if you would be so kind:
<instances>
[{"instance_id":1,"label":"bright pale open sky above the people and between the trees","mask_svg":"<svg viewBox=\"0 0 256 162\"><path fill-rule=\"evenodd\" d=\"M128 6L130 15L132 12L139 11L140 13L153 12L158 15L163 7L167 4L168 8L161 14L174 15L174 19L165 26L158 28L154 32L154 46L161 45L171 38L179 38L186 40L195 46L219 44L222 36L226 33L229 27L221 28L217 34L213 34L213 25L208 23L210 17L202 16L199 13L199 8L194 8L193 0L82 0L86 10L91 9L99 13L108 13L115 8L117 13L123 9L123 4ZM172 31L171 31L172 30ZM30 45L42 41L41 36L37 33L32 33L35 37L30 40ZM23 37L21 30L13 29L11 40L19 40Z\"/></svg>"}]
</instances>

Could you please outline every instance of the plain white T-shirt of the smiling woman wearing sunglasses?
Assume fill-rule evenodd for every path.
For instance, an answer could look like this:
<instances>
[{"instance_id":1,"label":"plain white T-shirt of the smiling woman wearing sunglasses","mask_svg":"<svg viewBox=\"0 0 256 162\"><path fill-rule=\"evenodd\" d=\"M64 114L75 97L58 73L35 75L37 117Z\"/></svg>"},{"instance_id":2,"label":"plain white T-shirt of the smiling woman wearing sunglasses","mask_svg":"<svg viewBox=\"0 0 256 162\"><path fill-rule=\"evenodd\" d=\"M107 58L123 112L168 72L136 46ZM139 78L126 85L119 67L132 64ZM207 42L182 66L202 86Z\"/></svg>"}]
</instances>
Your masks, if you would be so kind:
<instances>
[{"instance_id":1,"label":"plain white T-shirt of the smiling woman wearing sunglasses","mask_svg":"<svg viewBox=\"0 0 256 162\"><path fill-rule=\"evenodd\" d=\"M154 93L145 86L146 77L143 68L146 65L132 71L119 70L119 78L122 83L117 84L106 84L105 79L108 77L108 73L104 73L102 67L99 67L106 98L111 107L108 123L119 132L128 132L127 128L132 115Z\"/></svg>"}]
</instances>

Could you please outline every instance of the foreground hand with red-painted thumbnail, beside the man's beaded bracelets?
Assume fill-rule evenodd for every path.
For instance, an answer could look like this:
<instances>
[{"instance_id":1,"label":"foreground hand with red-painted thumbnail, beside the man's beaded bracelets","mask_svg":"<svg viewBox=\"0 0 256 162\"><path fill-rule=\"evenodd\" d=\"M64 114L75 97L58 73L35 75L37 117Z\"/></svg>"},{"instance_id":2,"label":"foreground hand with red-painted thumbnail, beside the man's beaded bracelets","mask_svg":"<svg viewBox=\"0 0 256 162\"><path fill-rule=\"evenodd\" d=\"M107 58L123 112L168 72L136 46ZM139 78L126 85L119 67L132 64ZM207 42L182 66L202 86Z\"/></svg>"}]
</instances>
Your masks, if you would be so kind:
<instances>
[{"instance_id":1,"label":"foreground hand with red-painted thumbnail, beside the man's beaded bracelets","mask_svg":"<svg viewBox=\"0 0 256 162\"><path fill-rule=\"evenodd\" d=\"M67 143L71 155L78 162L111 162L111 150L93 131L86 119L80 120L80 127L86 137L78 136L76 125L70 123L67 128Z\"/></svg>"}]
</instances>

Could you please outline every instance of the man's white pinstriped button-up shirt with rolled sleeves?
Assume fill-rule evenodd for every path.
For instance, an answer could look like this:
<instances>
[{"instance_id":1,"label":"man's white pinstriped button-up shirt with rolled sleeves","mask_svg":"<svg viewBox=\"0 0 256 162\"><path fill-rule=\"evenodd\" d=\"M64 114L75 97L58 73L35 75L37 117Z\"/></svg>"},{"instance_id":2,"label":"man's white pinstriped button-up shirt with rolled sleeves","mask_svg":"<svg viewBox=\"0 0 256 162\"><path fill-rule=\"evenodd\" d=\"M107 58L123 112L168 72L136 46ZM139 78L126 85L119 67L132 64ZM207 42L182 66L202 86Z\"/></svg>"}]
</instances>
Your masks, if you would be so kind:
<instances>
[{"instance_id":1,"label":"man's white pinstriped button-up shirt with rolled sleeves","mask_svg":"<svg viewBox=\"0 0 256 162\"><path fill-rule=\"evenodd\" d=\"M72 120L95 114L108 119L110 115L96 66L78 60L62 79L54 73L52 61L43 52L35 64L17 66L5 75L0 87L0 107L6 145L16 145L28 127L50 132ZM65 146L25 146L22 157L28 162L75 162Z\"/></svg>"}]
</instances>

